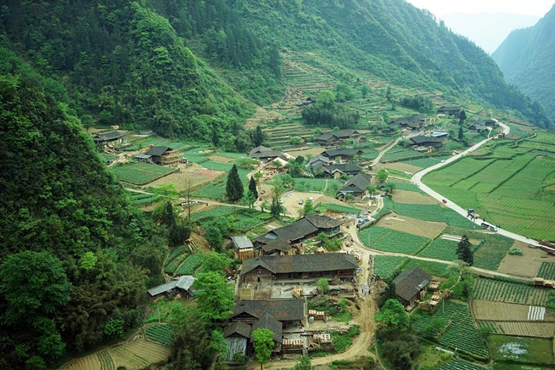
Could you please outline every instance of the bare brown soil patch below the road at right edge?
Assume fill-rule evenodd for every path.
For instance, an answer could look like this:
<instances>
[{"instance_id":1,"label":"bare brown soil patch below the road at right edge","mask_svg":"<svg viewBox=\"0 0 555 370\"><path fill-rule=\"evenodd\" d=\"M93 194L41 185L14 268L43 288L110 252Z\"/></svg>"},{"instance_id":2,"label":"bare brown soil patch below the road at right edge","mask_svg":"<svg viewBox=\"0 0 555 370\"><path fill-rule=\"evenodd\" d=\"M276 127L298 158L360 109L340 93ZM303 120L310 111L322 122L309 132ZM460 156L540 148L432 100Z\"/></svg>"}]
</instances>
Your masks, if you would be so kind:
<instances>
[{"instance_id":1,"label":"bare brown soil patch below the road at right edge","mask_svg":"<svg viewBox=\"0 0 555 370\"><path fill-rule=\"evenodd\" d=\"M522 255L506 255L499 266L499 272L534 278L542 262L555 262L555 255L549 255L541 249L529 248L528 244L515 242L513 246L520 249Z\"/></svg>"}]
</instances>

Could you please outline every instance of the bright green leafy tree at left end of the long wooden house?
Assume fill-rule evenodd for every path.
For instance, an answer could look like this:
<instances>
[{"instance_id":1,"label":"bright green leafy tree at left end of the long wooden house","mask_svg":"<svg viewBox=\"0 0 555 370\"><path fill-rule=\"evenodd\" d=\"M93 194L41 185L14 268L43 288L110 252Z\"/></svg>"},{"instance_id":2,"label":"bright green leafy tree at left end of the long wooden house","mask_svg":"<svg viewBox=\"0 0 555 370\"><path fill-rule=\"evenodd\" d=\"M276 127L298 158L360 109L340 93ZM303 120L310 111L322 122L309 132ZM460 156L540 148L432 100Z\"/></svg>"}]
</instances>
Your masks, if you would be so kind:
<instances>
[{"instance_id":1,"label":"bright green leafy tree at left end of the long wooden house","mask_svg":"<svg viewBox=\"0 0 555 370\"><path fill-rule=\"evenodd\" d=\"M216 271L200 273L193 283L200 319L207 323L223 321L233 312L233 285Z\"/></svg>"}]
</instances>

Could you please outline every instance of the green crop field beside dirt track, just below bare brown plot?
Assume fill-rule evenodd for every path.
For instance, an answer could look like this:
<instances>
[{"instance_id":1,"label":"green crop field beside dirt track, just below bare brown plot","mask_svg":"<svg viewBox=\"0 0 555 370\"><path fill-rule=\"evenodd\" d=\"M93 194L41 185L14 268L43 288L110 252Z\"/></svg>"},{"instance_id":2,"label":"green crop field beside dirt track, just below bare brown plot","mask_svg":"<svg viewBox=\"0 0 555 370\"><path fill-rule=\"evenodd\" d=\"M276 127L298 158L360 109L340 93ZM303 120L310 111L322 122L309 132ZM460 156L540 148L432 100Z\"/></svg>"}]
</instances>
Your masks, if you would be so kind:
<instances>
[{"instance_id":1,"label":"green crop field beside dirt track, just below bare brown plot","mask_svg":"<svg viewBox=\"0 0 555 370\"><path fill-rule=\"evenodd\" d=\"M429 242L427 237L420 237L379 226L359 231L359 238L368 248L407 254L418 253Z\"/></svg>"}]
</instances>

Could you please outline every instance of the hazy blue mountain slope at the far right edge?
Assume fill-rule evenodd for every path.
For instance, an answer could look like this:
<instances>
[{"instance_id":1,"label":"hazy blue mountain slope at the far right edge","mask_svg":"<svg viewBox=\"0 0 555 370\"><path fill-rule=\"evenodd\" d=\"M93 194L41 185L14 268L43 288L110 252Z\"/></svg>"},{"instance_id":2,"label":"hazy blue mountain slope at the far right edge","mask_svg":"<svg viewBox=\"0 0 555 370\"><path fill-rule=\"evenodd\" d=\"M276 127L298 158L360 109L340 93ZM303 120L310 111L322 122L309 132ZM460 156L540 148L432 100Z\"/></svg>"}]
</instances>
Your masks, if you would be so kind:
<instances>
[{"instance_id":1,"label":"hazy blue mountain slope at the far right edge","mask_svg":"<svg viewBox=\"0 0 555 370\"><path fill-rule=\"evenodd\" d=\"M555 6L535 26L511 32L492 58L509 83L542 103L555 119Z\"/></svg>"}]
</instances>

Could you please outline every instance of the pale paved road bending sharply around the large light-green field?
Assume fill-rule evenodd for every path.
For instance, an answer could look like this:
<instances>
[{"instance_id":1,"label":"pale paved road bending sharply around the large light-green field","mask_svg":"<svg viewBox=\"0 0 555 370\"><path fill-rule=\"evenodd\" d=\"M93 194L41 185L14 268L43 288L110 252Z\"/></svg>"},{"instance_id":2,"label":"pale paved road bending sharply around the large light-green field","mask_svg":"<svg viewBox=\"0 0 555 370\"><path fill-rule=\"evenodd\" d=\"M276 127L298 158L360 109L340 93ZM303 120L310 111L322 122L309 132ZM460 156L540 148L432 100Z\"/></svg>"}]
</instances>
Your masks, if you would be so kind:
<instances>
[{"instance_id":1,"label":"pale paved road bending sharply around the large light-green field","mask_svg":"<svg viewBox=\"0 0 555 370\"><path fill-rule=\"evenodd\" d=\"M498 122L498 123L499 123L499 126L502 126L503 133L505 135L507 135L510 131L509 126L507 126L506 124L502 124L501 122ZM429 172L434 171L435 169L438 169L440 167L449 165L450 163L454 162L455 160L458 160L459 158L461 158L463 155L466 155L466 154L468 154L472 151L475 151L480 146L482 146L486 142L488 142L488 140L490 140L490 138L484 139L481 142L470 146L470 148L466 149L466 151L463 151L463 152L461 152L457 155L453 155L451 158L445 160L445 162L443 162L443 163L438 163L436 165L433 165L432 167L427 167L425 169L422 169L422 171L418 171L416 174L414 174L412 176L411 181L413 183L420 183L420 189L423 192L427 193L429 196L434 197L438 201L441 202L441 201L443 201L443 199L445 199L447 201L447 203L445 203L445 205L447 207L456 211L457 213L459 213L459 215L467 217L467 215L468 215L467 210L463 209L460 205L456 205L455 203L453 203L449 199L445 198L445 196L443 196L443 195L439 194L438 192L435 192L434 190L427 187L427 185L422 183L422 177L424 177L426 174L429 174ZM477 224L477 225L480 225L482 222L484 222L484 219L475 219L474 220L474 223ZM518 240L519 242L532 244L534 246L540 246L540 244L538 242L536 242L536 240L530 239L529 237L524 237L523 235L518 235L518 234L515 234L515 233L511 233L510 231L503 230L502 228L499 228L499 230L497 230L497 234L503 235L505 237L510 237L511 239Z\"/></svg>"}]
</instances>

